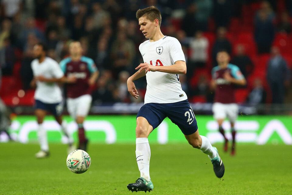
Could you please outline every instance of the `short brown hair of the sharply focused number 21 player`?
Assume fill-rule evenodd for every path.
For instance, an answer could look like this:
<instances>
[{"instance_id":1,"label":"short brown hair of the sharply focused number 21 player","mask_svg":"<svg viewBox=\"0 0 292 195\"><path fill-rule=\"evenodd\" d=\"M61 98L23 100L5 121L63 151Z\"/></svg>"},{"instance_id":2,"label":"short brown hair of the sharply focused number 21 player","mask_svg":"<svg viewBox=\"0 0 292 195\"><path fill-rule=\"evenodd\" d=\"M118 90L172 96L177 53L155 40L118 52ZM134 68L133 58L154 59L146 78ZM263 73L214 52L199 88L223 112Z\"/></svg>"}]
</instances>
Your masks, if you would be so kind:
<instances>
[{"instance_id":1,"label":"short brown hair of the sharply focused number 21 player","mask_svg":"<svg viewBox=\"0 0 292 195\"><path fill-rule=\"evenodd\" d=\"M161 13L159 9L155 6L150 6L144 9L138 9L136 12L136 18L139 19L143 16L146 16L146 19L149 19L151 22L153 22L155 19L158 19L159 27L161 25Z\"/></svg>"}]
</instances>

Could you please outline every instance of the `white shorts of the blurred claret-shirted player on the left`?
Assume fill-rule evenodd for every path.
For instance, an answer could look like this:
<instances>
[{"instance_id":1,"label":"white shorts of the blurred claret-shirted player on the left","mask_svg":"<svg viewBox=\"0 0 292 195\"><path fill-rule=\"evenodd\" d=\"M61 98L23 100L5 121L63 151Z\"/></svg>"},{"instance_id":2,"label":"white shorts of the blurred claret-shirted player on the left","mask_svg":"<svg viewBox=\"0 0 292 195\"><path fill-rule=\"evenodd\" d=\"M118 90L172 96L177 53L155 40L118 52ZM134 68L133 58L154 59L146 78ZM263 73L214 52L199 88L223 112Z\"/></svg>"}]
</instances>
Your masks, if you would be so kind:
<instances>
[{"instance_id":1,"label":"white shorts of the blurred claret-shirted player on the left","mask_svg":"<svg viewBox=\"0 0 292 195\"><path fill-rule=\"evenodd\" d=\"M77 116L87 116L92 97L89 94L82 95L78 98L67 98L67 110L73 119Z\"/></svg>"}]
</instances>

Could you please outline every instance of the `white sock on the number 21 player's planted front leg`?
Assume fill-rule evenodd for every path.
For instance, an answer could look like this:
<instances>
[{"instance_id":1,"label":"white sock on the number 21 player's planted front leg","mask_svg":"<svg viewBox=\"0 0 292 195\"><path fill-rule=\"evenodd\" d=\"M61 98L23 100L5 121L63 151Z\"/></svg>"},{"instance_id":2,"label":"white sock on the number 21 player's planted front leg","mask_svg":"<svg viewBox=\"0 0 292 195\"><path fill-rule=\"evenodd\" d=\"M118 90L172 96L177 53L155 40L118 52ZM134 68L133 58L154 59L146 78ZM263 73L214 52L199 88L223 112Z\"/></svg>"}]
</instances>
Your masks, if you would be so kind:
<instances>
[{"instance_id":1,"label":"white sock on the number 21 player's planted front leg","mask_svg":"<svg viewBox=\"0 0 292 195\"><path fill-rule=\"evenodd\" d=\"M136 138L136 160L140 171L140 176L150 181L149 164L151 151L148 138Z\"/></svg>"}]
</instances>

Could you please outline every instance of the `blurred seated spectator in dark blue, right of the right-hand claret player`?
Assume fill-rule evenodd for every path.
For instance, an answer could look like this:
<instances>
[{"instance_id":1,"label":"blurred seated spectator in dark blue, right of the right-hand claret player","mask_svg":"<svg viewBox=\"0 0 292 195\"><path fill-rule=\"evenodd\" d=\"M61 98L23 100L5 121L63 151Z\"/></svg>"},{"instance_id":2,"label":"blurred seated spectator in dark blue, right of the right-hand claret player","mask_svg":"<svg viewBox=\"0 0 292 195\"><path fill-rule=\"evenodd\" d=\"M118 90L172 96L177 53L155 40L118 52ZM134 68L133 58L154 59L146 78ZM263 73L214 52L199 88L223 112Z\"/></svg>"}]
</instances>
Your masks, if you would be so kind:
<instances>
[{"instance_id":1,"label":"blurred seated spectator in dark blue, right of the right-hand claret player","mask_svg":"<svg viewBox=\"0 0 292 195\"><path fill-rule=\"evenodd\" d=\"M253 81L252 91L249 93L247 98L247 103L251 106L257 106L259 104L265 104L267 98L267 93L262 86L262 81L259 78L256 78Z\"/></svg>"}]
</instances>

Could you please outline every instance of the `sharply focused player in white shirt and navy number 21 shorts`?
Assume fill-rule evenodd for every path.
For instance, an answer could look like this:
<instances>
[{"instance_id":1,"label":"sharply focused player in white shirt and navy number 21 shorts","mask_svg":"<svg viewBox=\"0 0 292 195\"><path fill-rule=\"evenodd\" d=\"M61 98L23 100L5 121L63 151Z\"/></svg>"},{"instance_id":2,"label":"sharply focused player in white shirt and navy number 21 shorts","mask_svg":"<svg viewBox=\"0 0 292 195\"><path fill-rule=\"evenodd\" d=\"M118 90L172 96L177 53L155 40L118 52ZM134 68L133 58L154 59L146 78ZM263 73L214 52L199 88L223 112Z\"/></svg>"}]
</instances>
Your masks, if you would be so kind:
<instances>
[{"instance_id":1,"label":"sharply focused player in white shirt and navy number 21 shorts","mask_svg":"<svg viewBox=\"0 0 292 195\"><path fill-rule=\"evenodd\" d=\"M130 94L138 98L133 81L146 75L147 88L144 105L136 118L136 161L140 178L128 184L127 188L132 192L153 190L149 174L151 151L148 136L166 117L181 129L190 145L208 155L216 176L223 177L225 169L218 151L207 137L200 136L193 110L179 83L179 74L186 74L181 44L176 38L162 34L161 13L155 6L139 9L136 17L140 30L149 40L139 46L145 63L137 66L138 71L129 77L127 86Z\"/></svg>"}]
</instances>

